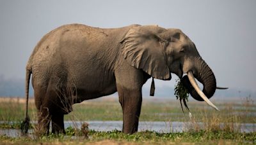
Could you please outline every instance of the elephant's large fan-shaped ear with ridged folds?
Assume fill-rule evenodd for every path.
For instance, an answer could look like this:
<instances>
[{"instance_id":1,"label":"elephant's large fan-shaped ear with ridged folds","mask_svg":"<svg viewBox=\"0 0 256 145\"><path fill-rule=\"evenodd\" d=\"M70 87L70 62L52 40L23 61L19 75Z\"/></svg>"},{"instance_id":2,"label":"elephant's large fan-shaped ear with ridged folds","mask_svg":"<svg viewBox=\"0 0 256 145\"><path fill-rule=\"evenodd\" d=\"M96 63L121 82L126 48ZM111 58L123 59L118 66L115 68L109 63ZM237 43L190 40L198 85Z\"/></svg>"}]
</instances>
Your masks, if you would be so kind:
<instances>
[{"instance_id":1,"label":"elephant's large fan-shaped ear with ridged folds","mask_svg":"<svg viewBox=\"0 0 256 145\"><path fill-rule=\"evenodd\" d=\"M131 66L143 69L153 78L170 79L164 53L166 41L157 36L158 32L156 26L133 27L121 41L122 55Z\"/></svg>"}]
</instances>

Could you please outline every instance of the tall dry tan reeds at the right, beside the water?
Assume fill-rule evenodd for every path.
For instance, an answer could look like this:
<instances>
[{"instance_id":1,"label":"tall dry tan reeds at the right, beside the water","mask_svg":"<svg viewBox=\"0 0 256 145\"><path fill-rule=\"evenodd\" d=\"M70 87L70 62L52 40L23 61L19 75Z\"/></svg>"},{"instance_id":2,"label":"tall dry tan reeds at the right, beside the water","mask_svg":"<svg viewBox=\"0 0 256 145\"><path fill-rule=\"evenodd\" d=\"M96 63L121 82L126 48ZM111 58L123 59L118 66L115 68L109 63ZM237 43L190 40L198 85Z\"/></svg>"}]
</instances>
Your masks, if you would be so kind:
<instances>
[{"instance_id":1,"label":"tall dry tan reeds at the right, beside the water","mask_svg":"<svg viewBox=\"0 0 256 145\"><path fill-rule=\"evenodd\" d=\"M238 106L238 107L237 107ZM189 132L241 132L246 123L255 123L255 107L254 101L250 97L246 97L241 105L233 102L223 104L220 112L209 111L209 109L199 109L199 113L193 115L191 121L186 125L186 130ZM256 130L253 128L252 130Z\"/></svg>"}]
</instances>

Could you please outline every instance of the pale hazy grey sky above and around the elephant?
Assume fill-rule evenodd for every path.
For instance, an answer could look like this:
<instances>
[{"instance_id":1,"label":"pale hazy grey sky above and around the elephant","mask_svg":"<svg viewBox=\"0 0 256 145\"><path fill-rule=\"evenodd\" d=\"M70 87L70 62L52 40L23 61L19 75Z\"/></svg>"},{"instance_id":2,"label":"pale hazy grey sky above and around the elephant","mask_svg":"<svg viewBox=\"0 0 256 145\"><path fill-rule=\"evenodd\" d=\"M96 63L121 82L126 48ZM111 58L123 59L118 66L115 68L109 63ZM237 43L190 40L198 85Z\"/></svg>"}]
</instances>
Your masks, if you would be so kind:
<instances>
[{"instance_id":1,"label":"pale hazy grey sky above and around the elephant","mask_svg":"<svg viewBox=\"0 0 256 145\"><path fill-rule=\"evenodd\" d=\"M179 28L195 42L217 85L254 90L256 1L0 1L0 76L25 78L36 43L63 24ZM172 76L175 76L174 74ZM156 81L156 86L174 86ZM148 81L146 86L149 86Z\"/></svg>"}]
</instances>

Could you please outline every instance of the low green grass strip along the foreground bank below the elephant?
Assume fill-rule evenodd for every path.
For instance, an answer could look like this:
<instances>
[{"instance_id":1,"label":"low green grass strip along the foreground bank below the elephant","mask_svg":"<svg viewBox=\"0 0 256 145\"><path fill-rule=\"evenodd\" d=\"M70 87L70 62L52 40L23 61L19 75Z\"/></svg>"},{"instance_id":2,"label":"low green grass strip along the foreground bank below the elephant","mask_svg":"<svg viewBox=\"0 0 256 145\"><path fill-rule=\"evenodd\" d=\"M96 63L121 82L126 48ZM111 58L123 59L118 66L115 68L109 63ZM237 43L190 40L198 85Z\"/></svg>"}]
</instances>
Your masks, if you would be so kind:
<instances>
[{"instance_id":1,"label":"low green grass strip along the foreground bank below the elephant","mask_svg":"<svg viewBox=\"0 0 256 145\"><path fill-rule=\"evenodd\" d=\"M88 138L83 135L74 136L74 128L66 130L67 135L54 135L36 137L35 139L29 137L6 137L0 136L0 141L17 144L35 144L35 143L66 143L66 144L81 144L81 143L95 143L100 141L113 142L130 142L137 144L151 143L151 144L168 144L170 142L207 142L207 144L229 142L232 144L241 144L244 142L256 142L256 132L253 133L238 133L238 132L207 132L200 130L198 132L184 132L184 133L157 133L151 131L137 132L136 134L127 135L118 130L111 132L97 132L90 130ZM74 132L75 134L75 132Z\"/></svg>"}]
</instances>

